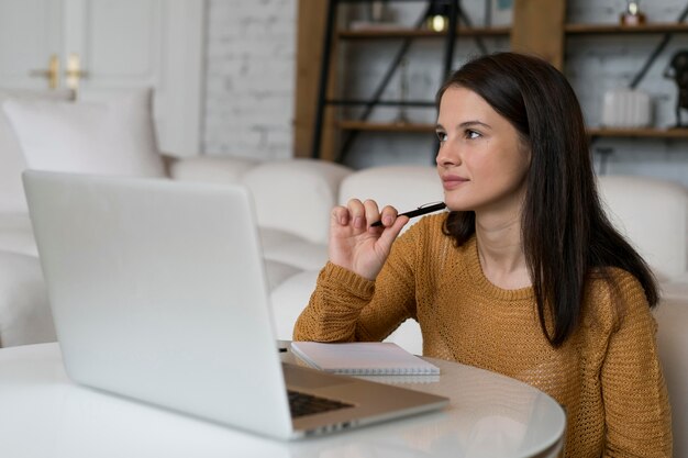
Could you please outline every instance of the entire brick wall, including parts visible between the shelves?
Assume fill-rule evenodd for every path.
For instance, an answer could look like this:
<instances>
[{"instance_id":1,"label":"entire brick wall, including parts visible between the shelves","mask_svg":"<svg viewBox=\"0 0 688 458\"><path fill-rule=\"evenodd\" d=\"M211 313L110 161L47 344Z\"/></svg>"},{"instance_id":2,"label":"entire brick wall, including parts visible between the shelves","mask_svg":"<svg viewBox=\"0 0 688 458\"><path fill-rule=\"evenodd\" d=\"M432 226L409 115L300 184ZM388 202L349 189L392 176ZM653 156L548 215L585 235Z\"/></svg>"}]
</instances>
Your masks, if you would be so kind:
<instances>
[{"instance_id":1,"label":"entire brick wall, including parts visible between the shelves","mask_svg":"<svg viewBox=\"0 0 688 458\"><path fill-rule=\"evenodd\" d=\"M208 154L282 158L292 154L292 116L296 59L296 10L298 0L209 0L208 78L203 147ZM482 0L464 0L476 24L484 19ZM617 23L625 0L568 0L569 22ZM652 22L675 21L685 0L642 1ZM414 2L390 3L402 23L419 14ZM314 38L317 40L317 38ZM586 119L597 125L607 89L626 86L662 40L661 35L608 35L568 37L566 74L580 99ZM486 38L490 51L507 49L506 38ZM369 94L392 58L391 42L349 44L343 78L352 94ZM365 49L362 47L365 46ZM688 49L688 34L677 34L655 62L639 89L651 93L655 124L675 122L676 88L662 74L673 53ZM365 51L365 52L364 52ZM455 66L478 52L470 40L455 49ZM409 54L409 99L430 99L441 82L442 43L415 42ZM385 98L397 98L399 82L389 85ZM396 109L378 109L376 120L392 120ZM688 112L684 113L688 121ZM415 121L434 121L434 110L410 110ZM688 186L688 141L602 139L595 146L611 146L603 170L609 174L651 175ZM432 135L364 134L346 156L346 163L365 167L386 163L428 164L432 160ZM601 156L597 157L601 168Z\"/></svg>"}]
</instances>

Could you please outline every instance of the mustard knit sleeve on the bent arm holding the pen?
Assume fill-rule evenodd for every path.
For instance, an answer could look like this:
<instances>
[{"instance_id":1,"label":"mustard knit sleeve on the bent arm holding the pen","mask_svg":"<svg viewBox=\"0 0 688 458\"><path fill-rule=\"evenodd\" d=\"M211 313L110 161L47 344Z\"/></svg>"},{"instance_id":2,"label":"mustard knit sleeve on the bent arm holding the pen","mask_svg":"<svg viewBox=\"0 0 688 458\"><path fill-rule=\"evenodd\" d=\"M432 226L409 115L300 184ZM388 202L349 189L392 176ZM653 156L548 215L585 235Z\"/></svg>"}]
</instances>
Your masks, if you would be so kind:
<instances>
[{"instance_id":1,"label":"mustard knit sleeve on the bent arm holding the pen","mask_svg":"<svg viewBox=\"0 0 688 458\"><path fill-rule=\"evenodd\" d=\"M415 319L417 242L423 222L392 245L375 281L328 262L293 329L295 340L382 340L407 319Z\"/></svg>"}]
</instances>

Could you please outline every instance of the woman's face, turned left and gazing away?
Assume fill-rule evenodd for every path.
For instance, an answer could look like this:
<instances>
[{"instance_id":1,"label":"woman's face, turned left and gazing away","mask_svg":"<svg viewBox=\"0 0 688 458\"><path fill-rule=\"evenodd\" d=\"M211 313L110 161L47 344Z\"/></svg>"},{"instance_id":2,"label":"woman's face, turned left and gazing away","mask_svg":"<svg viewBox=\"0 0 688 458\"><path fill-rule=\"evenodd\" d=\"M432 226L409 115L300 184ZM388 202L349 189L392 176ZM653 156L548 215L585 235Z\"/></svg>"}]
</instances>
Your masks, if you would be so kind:
<instances>
[{"instance_id":1,"label":"woman's face, turned left and gazing away","mask_svg":"<svg viewBox=\"0 0 688 458\"><path fill-rule=\"evenodd\" d=\"M477 93L448 88L437 118L437 172L451 210L520 213L530 150L517 130Z\"/></svg>"}]
</instances>

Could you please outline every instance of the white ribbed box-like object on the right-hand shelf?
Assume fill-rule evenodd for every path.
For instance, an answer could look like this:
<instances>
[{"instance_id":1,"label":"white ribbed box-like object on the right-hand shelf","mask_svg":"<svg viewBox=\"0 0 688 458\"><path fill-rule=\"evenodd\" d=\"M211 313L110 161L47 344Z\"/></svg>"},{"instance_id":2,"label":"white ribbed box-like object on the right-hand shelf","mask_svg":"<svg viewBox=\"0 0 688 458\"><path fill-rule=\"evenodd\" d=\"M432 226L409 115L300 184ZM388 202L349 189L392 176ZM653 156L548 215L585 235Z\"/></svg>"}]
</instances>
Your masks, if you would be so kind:
<instances>
[{"instance_id":1,"label":"white ribbed box-like object on the right-hand shelf","mask_svg":"<svg viewBox=\"0 0 688 458\"><path fill-rule=\"evenodd\" d=\"M652 124L652 99L636 89L612 89L604 93L602 125L615 129L648 127Z\"/></svg>"}]
</instances>

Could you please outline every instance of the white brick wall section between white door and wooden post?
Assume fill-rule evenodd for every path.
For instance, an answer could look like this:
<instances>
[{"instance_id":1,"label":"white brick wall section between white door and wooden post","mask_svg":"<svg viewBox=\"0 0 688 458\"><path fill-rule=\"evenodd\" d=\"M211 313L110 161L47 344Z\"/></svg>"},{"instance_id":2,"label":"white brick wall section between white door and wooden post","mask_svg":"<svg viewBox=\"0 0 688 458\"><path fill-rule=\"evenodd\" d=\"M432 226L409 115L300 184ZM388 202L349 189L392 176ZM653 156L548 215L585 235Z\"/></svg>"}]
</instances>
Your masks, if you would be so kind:
<instances>
[{"instance_id":1,"label":"white brick wall section between white door and wooden post","mask_svg":"<svg viewBox=\"0 0 688 458\"><path fill-rule=\"evenodd\" d=\"M209 0L203 152L292 152L297 0Z\"/></svg>"}]
</instances>

